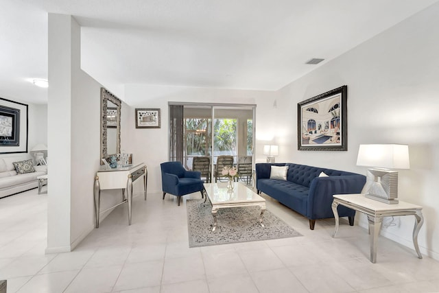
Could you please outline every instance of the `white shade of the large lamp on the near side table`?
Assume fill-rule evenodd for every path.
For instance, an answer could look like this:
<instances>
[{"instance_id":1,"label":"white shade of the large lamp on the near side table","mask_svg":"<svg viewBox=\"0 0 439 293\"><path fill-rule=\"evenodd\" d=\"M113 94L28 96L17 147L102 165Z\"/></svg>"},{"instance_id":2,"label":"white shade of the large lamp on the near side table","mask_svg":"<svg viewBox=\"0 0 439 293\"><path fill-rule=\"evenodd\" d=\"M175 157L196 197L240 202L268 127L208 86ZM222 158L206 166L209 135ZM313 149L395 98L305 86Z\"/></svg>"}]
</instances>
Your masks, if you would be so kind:
<instances>
[{"instance_id":1,"label":"white shade of the large lamp on the near side table","mask_svg":"<svg viewBox=\"0 0 439 293\"><path fill-rule=\"evenodd\" d=\"M359 145L358 166L410 169L408 145Z\"/></svg>"}]
</instances>

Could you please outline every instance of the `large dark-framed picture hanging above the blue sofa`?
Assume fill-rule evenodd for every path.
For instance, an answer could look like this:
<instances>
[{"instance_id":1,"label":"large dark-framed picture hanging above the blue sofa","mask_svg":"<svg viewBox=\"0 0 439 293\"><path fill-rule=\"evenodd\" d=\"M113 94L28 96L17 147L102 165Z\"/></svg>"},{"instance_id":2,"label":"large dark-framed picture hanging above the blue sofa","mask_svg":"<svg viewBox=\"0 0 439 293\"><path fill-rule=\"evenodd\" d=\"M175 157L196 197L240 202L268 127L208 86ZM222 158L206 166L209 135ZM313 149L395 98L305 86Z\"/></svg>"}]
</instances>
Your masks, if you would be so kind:
<instances>
[{"instance_id":1,"label":"large dark-framed picture hanging above the blue sofa","mask_svg":"<svg viewBox=\"0 0 439 293\"><path fill-rule=\"evenodd\" d=\"M348 150L348 86L297 104L298 150Z\"/></svg>"}]
</instances>

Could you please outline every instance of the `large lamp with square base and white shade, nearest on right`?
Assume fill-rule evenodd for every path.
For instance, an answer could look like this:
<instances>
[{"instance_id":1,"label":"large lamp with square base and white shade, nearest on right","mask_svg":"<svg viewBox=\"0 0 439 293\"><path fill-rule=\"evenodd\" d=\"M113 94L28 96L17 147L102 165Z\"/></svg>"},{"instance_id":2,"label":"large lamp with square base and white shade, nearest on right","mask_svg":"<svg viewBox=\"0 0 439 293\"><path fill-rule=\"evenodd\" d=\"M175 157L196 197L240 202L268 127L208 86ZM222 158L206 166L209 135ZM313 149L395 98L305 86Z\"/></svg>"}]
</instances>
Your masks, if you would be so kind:
<instances>
[{"instance_id":1,"label":"large lamp with square base and white shade, nearest on right","mask_svg":"<svg viewBox=\"0 0 439 293\"><path fill-rule=\"evenodd\" d=\"M357 166L370 166L366 173L366 198L398 203L398 172L410 169L408 145L359 145Z\"/></svg>"}]
</instances>

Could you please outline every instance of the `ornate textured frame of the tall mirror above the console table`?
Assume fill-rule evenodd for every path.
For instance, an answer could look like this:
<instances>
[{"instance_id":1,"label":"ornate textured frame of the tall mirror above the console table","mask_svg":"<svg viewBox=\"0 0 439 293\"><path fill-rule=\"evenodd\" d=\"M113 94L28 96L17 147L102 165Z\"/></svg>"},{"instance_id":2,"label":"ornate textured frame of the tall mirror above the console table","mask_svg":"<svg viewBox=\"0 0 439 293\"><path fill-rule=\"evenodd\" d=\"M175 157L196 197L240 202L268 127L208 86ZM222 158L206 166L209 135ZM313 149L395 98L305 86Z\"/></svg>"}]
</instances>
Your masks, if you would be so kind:
<instances>
[{"instance_id":1,"label":"ornate textured frame of the tall mirror above the console table","mask_svg":"<svg viewBox=\"0 0 439 293\"><path fill-rule=\"evenodd\" d=\"M117 108L117 119L116 119L116 153L120 154L121 152L121 105L122 102L115 95L110 93L104 88L101 88L101 158L99 161L101 165L104 165L101 159L106 159L110 154L107 152L107 105L108 101L112 102L112 104L116 105Z\"/></svg>"}]
</instances>

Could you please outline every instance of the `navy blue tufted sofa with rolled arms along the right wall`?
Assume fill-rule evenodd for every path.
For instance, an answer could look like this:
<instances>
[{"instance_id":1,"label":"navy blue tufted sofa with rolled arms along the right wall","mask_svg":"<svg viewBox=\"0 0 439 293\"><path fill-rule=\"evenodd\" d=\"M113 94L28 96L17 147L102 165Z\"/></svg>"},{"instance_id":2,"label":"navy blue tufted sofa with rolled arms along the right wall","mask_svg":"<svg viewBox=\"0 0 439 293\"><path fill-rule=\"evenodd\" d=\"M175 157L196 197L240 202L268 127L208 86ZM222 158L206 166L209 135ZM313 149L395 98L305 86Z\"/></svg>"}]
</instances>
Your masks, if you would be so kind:
<instances>
[{"instance_id":1,"label":"navy blue tufted sofa with rolled arms along the right wall","mask_svg":"<svg viewBox=\"0 0 439 293\"><path fill-rule=\"evenodd\" d=\"M272 166L288 166L287 180L270 179ZM321 172L328 175L319 177ZM351 172L293 163L257 163L256 188L309 219L314 229L317 219L334 218L331 204L334 194L359 194L366 176ZM353 226L355 211L338 206L340 217L348 217Z\"/></svg>"}]
</instances>

